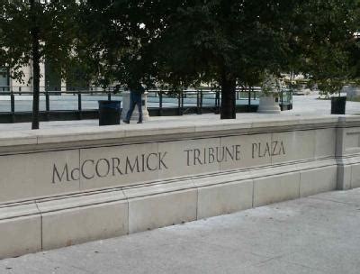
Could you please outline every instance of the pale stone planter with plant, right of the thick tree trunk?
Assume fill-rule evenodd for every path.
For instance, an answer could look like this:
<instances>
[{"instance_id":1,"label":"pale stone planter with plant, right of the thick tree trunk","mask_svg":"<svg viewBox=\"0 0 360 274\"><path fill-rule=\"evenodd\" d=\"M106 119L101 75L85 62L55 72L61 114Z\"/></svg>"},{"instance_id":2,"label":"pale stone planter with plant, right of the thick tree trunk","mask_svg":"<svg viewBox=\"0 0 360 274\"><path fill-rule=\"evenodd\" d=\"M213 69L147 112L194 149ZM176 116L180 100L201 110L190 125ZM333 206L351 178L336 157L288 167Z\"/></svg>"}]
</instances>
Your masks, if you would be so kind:
<instances>
[{"instance_id":1,"label":"pale stone planter with plant, right of the thick tree trunk","mask_svg":"<svg viewBox=\"0 0 360 274\"><path fill-rule=\"evenodd\" d=\"M261 94L259 99L258 113L280 114L280 106L276 98L281 92L283 82L276 78L274 74L265 73L261 84Z\"/></svg>"}]
</instances>

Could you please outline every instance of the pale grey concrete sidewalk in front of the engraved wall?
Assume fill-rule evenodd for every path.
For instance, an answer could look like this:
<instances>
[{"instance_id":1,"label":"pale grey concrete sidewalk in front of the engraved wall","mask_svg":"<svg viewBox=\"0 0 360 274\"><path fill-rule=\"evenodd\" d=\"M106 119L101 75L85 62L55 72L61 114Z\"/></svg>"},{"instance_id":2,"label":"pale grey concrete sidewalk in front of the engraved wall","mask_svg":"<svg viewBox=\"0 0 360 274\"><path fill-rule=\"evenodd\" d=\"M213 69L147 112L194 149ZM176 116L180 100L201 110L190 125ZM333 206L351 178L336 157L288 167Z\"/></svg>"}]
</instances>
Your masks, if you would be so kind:
<instances>
[{"instance_id":1,"label":"pale grey concrete sidewalk in front of the engraved wall","mask_svg":"<svg viewBox=\"0 0 360 274\"><path fill-rule=\"evenodd\" d=\"M357 274L359 227L357 188L0 260L0 273Z\"/></svg>"}]
</instances>

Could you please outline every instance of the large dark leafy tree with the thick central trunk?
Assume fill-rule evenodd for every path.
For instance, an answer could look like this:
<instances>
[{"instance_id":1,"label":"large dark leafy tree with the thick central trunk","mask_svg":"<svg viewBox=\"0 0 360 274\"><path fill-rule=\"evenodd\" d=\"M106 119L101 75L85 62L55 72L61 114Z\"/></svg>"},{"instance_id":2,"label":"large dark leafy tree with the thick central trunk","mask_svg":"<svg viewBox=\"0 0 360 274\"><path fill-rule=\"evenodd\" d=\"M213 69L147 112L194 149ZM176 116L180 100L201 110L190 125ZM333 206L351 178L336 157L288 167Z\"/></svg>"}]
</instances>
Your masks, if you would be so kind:
<instances>
[{"instance_id":1,"label":"large dark leafy tree with the thick central trunk","mask_svg":"<svg viewBox=\"0 0 360 274\"><path fill-rule=\"evenodd\" d=\"M235 118L236 87L258 82L265 70L279 73L287 66L289 18L296 5L284 0L171 1L155 41L159 78L177 87L216 80L220 118Z\"/></svg>"}]
</instances>

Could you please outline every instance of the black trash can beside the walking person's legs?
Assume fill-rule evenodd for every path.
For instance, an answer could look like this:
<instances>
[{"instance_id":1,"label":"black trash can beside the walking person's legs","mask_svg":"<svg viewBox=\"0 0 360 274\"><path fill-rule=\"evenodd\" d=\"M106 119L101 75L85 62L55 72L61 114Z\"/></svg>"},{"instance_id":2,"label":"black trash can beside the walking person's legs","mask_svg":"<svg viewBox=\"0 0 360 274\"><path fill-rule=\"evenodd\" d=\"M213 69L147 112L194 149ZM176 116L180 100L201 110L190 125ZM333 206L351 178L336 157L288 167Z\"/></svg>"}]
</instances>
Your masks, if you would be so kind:
<instances>
[{"instance_id":1,"label":"black trash can beside the walking person's legs","mask_svg":"<svg viewBox=\"0 0 360 274\"><path fill-rule=\"evenodd\" d=\"M120 124L121 101L98 101L99 125Z\"/></svg>"}]
</instances>

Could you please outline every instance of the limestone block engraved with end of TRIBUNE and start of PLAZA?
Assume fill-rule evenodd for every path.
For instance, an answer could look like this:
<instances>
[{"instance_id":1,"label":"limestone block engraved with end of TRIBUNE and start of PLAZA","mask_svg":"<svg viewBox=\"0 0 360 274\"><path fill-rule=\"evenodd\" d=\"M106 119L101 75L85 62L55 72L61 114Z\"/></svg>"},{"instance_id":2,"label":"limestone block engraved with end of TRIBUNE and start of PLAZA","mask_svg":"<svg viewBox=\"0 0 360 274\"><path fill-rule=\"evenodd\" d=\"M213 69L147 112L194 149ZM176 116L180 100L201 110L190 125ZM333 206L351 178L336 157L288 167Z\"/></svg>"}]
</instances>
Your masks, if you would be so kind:
<instances>
[{"instance_id":1,"label":"limestone block engraved with end of TRIBUNE and start of PLAZA","mask_svg":"<svg viewBox=\"0 0 360 274\"><path fill-rule=\"evenodd\" d=\"M271 133L222 137L220 145L226 149L221 170L269 165L275 149L272 148Z\"/></svg>"}]
</instances>

